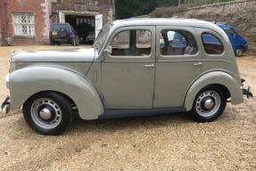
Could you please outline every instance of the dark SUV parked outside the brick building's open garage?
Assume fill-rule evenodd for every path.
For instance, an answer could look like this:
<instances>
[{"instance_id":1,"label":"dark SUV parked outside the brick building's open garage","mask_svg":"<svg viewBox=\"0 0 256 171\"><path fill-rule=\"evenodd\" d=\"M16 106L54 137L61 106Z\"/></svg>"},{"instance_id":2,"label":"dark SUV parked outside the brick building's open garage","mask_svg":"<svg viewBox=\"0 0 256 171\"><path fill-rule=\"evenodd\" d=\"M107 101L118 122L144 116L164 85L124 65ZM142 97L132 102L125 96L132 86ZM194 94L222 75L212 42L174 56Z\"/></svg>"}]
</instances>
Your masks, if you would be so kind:
<instances>
[{"instance_id":1,"label":"dark SUV parked outside the brick building's open garage","mask_svg":"<svg viewBox=\"0 0 256 171\"><path fill-rule=\"evenodd\" d=\"M70 23L54 23L49 32L50 45L79 45L78 33Z\"/></svg>"}]
</instances>

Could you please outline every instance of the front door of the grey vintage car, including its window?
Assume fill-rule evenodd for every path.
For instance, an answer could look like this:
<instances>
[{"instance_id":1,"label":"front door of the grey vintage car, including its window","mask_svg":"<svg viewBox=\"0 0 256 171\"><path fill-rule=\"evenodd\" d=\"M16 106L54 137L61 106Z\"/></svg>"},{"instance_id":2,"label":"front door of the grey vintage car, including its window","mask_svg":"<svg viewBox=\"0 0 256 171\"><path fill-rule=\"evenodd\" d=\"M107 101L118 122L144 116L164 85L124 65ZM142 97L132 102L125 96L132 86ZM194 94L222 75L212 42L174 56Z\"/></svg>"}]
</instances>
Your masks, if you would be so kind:
<instances>
[{"instance_id":1,"label":"front door of the grey vintage car, including its window","mask_svg":"<svg viewBox=\"0 0 256 171\"><path fill-rule=\"evenodd\" d=\"M109 38L102 62L106 109L153 108L155 27L125 27Z\"/></svg>"}]
</instances>

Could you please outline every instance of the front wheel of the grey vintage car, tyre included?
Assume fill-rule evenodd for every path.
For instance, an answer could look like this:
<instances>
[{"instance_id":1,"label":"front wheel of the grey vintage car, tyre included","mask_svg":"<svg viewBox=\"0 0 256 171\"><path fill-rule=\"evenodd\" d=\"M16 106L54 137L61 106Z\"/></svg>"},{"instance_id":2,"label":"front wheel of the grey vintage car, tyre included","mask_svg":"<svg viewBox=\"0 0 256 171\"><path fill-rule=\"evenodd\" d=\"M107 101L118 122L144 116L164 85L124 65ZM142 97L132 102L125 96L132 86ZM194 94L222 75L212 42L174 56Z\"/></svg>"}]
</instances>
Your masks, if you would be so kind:
<instances>
[{"instance_id":1,"label":"front wheel of the grey vintage car, tyre included","mask_svg":"<svg viewBox=\"0 0 256 171\"><path fill-rule=\"evenodd\" d=\"M28 125L39 134L57 135L70 125L72 109L69 100L61 94L36 94L23 105Z\"/></svg>"}]
</instances>

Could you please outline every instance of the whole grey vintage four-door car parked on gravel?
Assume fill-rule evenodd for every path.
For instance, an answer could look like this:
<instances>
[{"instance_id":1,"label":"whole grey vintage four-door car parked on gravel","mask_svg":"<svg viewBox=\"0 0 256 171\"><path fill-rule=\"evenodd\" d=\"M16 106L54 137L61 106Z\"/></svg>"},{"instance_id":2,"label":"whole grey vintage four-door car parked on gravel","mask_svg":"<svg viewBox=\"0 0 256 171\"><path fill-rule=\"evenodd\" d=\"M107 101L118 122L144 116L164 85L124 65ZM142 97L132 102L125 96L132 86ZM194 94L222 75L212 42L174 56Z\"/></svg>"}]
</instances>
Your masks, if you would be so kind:
<instances>
[{"instance_id":1,"label":"whole grey vintage four-door car parked on gravel","mask_svg":"<svg viewBox=\"0 0 256 171\"><path fill-rule=\"evenodd\" d=\"M161 40L162 39L162 40ZM226 33L210 22L115 20L92 48L13 52L1 112L23 109L39 134L61 134L83 119L190 111L209 122L252 97Z\"/></svg>"}]
</instances>

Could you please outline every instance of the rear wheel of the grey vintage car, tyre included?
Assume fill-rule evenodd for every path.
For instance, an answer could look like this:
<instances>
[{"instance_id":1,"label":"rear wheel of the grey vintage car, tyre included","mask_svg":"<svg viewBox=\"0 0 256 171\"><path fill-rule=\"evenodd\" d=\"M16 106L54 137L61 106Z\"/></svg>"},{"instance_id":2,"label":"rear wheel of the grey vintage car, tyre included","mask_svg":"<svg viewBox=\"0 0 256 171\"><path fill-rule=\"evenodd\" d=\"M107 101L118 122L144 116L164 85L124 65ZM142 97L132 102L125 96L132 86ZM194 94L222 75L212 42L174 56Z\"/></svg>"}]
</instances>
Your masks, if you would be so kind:
<instances>
[{"instance_id":1,"label":"rear wheel of the grey vintage car, tyre included","mask_svg":"<svg viewBox=\"0 0 256 171\"><path fill-rule=\"evenodd\" d=\"M226 105L226 96L219 87L208 85L196 95L191 112L197 121L211 122L222 114Z\"/></svg>"}]
</instances>

